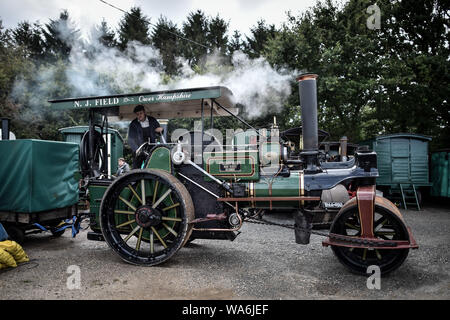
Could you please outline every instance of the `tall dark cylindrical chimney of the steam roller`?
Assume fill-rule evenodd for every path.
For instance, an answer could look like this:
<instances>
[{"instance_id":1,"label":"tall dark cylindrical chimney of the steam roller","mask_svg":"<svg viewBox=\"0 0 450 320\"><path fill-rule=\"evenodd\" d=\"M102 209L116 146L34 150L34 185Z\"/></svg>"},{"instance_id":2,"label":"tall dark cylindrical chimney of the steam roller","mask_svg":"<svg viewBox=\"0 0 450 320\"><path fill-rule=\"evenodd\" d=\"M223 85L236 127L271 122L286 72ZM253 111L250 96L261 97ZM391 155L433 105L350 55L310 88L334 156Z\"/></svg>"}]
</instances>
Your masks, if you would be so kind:
<instances>
[{"instance_id":1,"label":"tall dark cylindrical chimney of the steam roller","mask_svg":"<svg viewBox=\"0 0 450 320\"><path fill-rule=\"evenodd\" d=\"M303 152L307 172L318 172L319 136L317 124L317 74L303 74L299 83L300 106L302 108Z\"/></svg>"}]
</instances>

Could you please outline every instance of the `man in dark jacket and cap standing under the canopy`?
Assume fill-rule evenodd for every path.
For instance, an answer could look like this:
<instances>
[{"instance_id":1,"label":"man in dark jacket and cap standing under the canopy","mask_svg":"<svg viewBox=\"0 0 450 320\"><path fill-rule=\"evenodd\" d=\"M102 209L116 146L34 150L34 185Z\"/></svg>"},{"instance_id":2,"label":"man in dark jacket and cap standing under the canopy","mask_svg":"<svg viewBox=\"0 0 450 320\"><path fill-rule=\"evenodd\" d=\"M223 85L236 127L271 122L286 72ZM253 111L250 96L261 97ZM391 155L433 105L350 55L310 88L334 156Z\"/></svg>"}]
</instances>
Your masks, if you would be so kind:
<instances>
[{"instance_id":1,"label":"man in dark jacket and cap standing under the canopy","mask_svg":"<svg viewBox=\"0 0 450 320\"><path fill-rule=\"evenodd\" d=\"M161 133L163 128L159 122L145 113L143 105L134 108L136 119L131 121L128 128L128 145L133 151L133 168L139 168L140 163L136 163L136 150L144 143L155 143L156 134Z\"/></svg>"}]
</instances>

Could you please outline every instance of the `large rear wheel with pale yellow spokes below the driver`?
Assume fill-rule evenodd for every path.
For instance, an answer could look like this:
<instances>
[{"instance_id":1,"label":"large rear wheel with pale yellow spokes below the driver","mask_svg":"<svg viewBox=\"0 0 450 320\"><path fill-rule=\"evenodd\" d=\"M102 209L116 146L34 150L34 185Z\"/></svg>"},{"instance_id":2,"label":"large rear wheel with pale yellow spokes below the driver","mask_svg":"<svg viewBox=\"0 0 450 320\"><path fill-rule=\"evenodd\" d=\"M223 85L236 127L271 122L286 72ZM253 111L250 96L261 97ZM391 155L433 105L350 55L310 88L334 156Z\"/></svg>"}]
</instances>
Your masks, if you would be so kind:
<instances>
[{"instance_id":1,"label":"large rear wheel with pale yellow spokes below the driver","mask_svg":"<svg viewBox=\"0 0 450 320\"><path fill-rule=\"evenodd\" d=\"M189 239L194 205L185 186L158 169L132 170L114 181L100 205L108 245L126 262L153 266Z\"/></svg>"}]
</instances>

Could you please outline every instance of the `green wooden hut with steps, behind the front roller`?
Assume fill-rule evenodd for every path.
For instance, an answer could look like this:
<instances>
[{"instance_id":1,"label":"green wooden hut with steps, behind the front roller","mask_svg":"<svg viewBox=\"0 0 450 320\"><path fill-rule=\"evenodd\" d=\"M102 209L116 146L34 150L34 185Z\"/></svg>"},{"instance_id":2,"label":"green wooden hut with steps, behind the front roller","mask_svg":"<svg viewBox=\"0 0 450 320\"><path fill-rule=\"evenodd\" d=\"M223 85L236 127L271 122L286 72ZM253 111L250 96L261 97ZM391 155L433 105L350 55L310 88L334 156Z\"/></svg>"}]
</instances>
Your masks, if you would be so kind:
<instances>
[{"instance_id":1,"label":"green wooden hut with steps, behind the front roller","mask_svg":"<svg viewBox=\"0 0 450 320\"><path fill-rule=\"evenodd\" d=\"M369 145L377 153L377 185L384 186L392 197L398 193L405 208L407 200L414 199L420 209L421 195L417 189L431 186L429 141L431 137L424 135L396 133L360 143Z\"/></svg>"}]
</instances>

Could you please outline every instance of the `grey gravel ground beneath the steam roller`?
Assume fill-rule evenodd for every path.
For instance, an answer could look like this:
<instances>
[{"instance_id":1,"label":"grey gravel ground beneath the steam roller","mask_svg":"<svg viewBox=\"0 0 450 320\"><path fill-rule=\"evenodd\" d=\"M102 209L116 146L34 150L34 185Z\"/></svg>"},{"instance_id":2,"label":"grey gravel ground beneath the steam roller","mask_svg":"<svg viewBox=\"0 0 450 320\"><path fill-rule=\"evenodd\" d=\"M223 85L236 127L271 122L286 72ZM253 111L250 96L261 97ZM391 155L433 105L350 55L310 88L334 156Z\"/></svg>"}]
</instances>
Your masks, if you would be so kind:
<instances>
[{"instance_id":1,"label":"grey gravel ground beneath the steam roller","mask_svg":"<svg viewBox=\"0 0 450 320\"><path fill-rule=\"evenodd\" d=\"M320 236L302 246L293 230L245 224L233 242L195 240L157 267L123 262L105 242L87 240L87 230L76 238L30 235L23 247L32 262L0 271L0 300L449 299L449 207L402 213L420 248L381 279L380 290L349 273ZM80 289L67 287L71 265L80 267Z\"/></svg>"}]
</instances>

